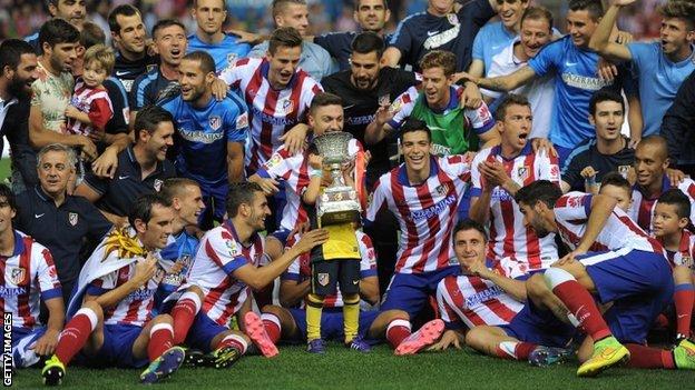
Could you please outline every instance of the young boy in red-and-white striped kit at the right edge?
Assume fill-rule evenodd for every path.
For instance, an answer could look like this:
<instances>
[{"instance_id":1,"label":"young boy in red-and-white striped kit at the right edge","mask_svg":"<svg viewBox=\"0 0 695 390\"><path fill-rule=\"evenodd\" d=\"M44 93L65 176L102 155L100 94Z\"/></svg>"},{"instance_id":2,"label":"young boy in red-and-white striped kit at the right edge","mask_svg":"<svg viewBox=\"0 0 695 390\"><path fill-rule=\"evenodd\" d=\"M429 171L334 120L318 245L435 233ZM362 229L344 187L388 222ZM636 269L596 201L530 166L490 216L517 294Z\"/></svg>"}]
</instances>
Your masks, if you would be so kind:
<instances>
[{"instance_id":1,"label":"young boy in red-and-white striped kit at the right edge","mask_svg":"<svg viewBox=\"0 0 695 390\"><path fill-rule=\"evenodd\" d=\"M691 226L691 200L678 189L670 189L658 198L654 210L653 234L664 246L674 266L674 303L676 307L676 340L691 336L693 291L693 256L695 234Z\"/></svg>"}]
</instances>

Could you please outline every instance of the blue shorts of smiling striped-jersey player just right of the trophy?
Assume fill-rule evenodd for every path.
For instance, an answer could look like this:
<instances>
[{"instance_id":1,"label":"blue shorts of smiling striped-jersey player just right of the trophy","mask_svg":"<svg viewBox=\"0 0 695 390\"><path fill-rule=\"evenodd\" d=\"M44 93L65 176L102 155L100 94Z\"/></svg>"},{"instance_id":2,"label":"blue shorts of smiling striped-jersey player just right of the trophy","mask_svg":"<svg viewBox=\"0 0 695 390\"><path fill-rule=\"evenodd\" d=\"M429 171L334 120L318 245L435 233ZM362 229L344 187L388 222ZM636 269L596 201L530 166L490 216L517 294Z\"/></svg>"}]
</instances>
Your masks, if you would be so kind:
<instances>
[{"instance_id":1,"label":"blue shorts of smiling striped-jersey player just right of the trophy","mask_svg":"<svg viewBox=\"0 0 695 390\"><path fill-rule=\"evenodd\" d=\"M428 303L428 299L437 294L437 284L446 277L459 276L460 272L459 266L423 273L397 272L391 278L381 310L403 310L410 318L415 318Z\"/></svg>"}]
</instances>

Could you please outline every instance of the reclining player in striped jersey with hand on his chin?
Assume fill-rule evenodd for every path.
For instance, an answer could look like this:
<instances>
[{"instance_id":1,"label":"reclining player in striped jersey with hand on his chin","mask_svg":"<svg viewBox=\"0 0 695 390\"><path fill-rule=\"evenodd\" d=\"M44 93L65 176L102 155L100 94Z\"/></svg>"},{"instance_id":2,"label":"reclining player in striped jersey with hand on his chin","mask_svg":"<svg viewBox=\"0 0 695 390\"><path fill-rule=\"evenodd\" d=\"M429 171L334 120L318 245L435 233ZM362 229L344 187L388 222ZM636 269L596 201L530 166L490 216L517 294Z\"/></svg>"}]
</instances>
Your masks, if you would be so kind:
<instances>
[{"instance_id":1,"label":"reclining player in striped jersey with hand on his chin","mask_svg":"<svg viewBox=\"0 0 695 390\"><path fill-rule=\"evenodd\" d=\"M437 302L447 331L432 349L471 348L502 359L528 360L534 366L559 363L574 327L550 312L540 317L526 302L526 274L501 276L486 267L487 234L478 222L463 220L453 229L453 250L462 274L439 282ZM466 330L468 332L466 332Z\"/></svg>"}]
</instances>

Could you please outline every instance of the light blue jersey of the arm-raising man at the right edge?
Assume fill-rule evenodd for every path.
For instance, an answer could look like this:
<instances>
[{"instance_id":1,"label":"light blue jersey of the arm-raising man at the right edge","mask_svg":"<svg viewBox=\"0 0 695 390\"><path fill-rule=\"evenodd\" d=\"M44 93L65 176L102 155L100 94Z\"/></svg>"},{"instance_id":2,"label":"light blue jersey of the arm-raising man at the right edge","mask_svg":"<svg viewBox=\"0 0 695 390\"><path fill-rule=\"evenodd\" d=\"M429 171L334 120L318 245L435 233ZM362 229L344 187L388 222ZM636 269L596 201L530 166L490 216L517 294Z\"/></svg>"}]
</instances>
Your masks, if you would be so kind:
<instances>
[{"instance_id":1,"label":"light blue jersey of the arm-raising man at the right edge","mask_svg":"<svg viewBox=\"0 0 695 390\"><path fill-rule=\"evenodd\" d=\"M670 108L678 87L695 70L693 53L681 62L672 62L664 56L659 42L635 42L627 46L633 56L634 71L639 80L639 100L644 130L642 137L657 134L662 118ZM648 104L646 103L648 102Z\"/></svg>"}]
</instances>

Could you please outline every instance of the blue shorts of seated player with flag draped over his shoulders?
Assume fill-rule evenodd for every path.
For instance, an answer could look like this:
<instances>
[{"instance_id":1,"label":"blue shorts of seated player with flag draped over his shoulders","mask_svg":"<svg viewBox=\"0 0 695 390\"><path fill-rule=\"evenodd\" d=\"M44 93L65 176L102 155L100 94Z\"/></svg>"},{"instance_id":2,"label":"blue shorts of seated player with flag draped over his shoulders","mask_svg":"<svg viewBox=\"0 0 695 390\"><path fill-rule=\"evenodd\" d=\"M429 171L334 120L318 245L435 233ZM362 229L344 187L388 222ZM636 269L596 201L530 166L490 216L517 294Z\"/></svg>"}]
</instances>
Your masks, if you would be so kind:
<instances>
[{"instance_id":1,"label":"blue shorts of seated player with flag draped over his shoulders","mask_svg":"<svg viewBox=\"0 0 695 390\"><path fill-rule=\"evenodd\" d=\"M147 357L133 356L133 344L140 337L143 327L130 324L105 324L104 344L95 357L86 359L88 364L99 367L141 368L149 363Z\"/></svg>"}]
</instances>

